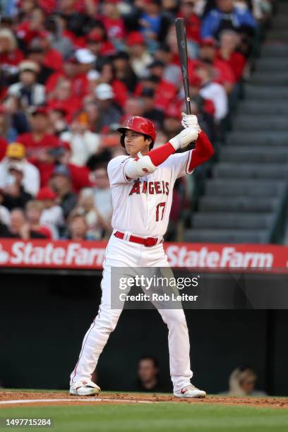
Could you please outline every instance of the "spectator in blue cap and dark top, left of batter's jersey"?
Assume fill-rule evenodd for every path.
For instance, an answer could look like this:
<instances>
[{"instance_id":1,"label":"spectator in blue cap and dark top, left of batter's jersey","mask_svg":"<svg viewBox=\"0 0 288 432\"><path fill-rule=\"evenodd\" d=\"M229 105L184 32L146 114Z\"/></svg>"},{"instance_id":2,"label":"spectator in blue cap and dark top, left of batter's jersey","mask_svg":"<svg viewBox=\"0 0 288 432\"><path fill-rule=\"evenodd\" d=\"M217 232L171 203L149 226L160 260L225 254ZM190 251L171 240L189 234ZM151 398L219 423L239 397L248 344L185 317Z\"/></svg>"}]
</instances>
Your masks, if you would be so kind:
<instances>
[{"instance_id":1,"label":"spectator in blue cap and dark top, left of batter's jersey","mask_svg":"<svg viewBox=\"0 0 288 432\"><path fill-rule=\"evenodd\" d=\"M76 193L72 191L71 174L65 165L54 168L52 179L49 182L52 190L56 193L65 219L77 204Z\"/></svg>"}]
</instances>

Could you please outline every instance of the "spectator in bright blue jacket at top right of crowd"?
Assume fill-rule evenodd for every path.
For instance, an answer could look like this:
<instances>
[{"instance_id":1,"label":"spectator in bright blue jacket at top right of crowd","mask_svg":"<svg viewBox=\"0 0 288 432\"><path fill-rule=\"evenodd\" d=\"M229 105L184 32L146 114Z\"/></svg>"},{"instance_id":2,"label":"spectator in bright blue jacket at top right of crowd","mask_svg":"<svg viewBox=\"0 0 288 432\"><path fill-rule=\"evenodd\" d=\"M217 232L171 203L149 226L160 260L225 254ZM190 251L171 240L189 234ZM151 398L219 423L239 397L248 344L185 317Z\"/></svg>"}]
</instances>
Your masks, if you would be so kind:
<instances>
[{"instance_id":1,"label":"spectator in bright blue jacket at top right of crowd","mask_svg":"<svg viewBox=\"0 0 288 432\"><path fill-rule=\"evenodd\" d=\"M218 39L223 30L244 30L253 34L256 21L246 8L234 6L234 0L216 0L216 8L205 16L201 25L201 37Z\"/></svg>"}]
</instances>

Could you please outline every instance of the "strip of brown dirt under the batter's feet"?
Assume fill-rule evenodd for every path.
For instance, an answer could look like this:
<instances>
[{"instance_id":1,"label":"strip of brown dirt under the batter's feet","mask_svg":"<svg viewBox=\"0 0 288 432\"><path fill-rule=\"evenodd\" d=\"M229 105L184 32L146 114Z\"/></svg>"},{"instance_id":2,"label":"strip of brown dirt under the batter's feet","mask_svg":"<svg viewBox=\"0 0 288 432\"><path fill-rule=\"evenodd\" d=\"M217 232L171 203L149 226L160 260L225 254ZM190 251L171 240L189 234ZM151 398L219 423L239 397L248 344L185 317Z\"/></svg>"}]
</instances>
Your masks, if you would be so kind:
<instances>
[{"instance_id":1,"label":"strip of brown dirt under the batter's feet","mask_svg":"<svg viewBox=\"0 0 288 432\"><path fill-rule=\"evenodd\" d=\"M205 399L185 399L174 397L173 395L157 395L147 393L100 393L99 396L78 397L71 396L68 392L24 392L24 391L1 391L0 407L15 407L13 404L5 404L5 401L18 401L19 405L75 405L75 404L122 404L122 403L143 403L143 402L185 402L192 404L220 404L220 405L244 405L246 407L269 407L288 409L288 397L229 397L229 396L208 396ZM29 400L29 402L28 402ZM39 402L32 402L37 400ZM41 402L43 400L43 402ZM52 400L48 402L46 400ZM26 402L27 401L27 402ZM23 403L24 402L24 403Z\"/></svg>"}]
</instances>

